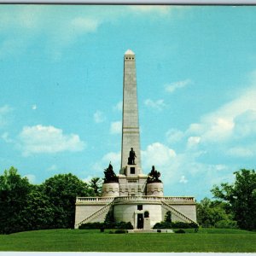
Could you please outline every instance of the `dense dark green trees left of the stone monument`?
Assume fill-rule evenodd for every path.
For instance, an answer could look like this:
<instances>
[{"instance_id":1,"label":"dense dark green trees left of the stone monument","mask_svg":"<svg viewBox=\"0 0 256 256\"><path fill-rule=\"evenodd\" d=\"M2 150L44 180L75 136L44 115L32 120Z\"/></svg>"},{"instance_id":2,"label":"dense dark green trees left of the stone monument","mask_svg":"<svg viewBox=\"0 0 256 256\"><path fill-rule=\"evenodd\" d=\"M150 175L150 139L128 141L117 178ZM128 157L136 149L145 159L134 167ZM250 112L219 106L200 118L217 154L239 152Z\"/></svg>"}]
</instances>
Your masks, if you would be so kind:
<instances>
[{"instance_id":1,"label":"dense dark green trees left of the stone monument","mask_svg":"<svg viewBox=\"0 0 256 256\"><path fill-rule=\"evenodd\" d=\"M94 191L71 173L32 185L11 167L0 176L0 234L73 228L76 196L94 196Z\"/></svg>"}]
</instances>

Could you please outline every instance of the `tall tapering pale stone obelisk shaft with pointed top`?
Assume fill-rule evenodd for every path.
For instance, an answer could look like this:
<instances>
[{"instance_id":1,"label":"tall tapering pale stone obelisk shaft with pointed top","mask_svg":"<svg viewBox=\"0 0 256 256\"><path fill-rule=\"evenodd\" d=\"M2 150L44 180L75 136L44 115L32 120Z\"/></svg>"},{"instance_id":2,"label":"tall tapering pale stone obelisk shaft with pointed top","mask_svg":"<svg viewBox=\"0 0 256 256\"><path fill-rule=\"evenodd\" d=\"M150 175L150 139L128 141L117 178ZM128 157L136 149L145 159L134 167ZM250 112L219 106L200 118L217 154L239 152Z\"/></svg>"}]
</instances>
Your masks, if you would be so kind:
<instances>
[{"instance_id":1,"label":"tall tapering pale stone obelisk shaft with pointed top","mask_svg":"<svg viewBox=\"0 0 256 256\"><path fill-rule=\"evenodd\" d=\"M124 89L123 89L123 126L122 126L122 159L120 174L125 174L128 166L128 157L133 148L136 158L134 161L135 173L141 171L140 130L137 108L137 79L135 54L128 49L124 58ZM129 172L130 173L130 172ZM126 175L129 175L126 173Z\"/></svg>"}]
</instances>

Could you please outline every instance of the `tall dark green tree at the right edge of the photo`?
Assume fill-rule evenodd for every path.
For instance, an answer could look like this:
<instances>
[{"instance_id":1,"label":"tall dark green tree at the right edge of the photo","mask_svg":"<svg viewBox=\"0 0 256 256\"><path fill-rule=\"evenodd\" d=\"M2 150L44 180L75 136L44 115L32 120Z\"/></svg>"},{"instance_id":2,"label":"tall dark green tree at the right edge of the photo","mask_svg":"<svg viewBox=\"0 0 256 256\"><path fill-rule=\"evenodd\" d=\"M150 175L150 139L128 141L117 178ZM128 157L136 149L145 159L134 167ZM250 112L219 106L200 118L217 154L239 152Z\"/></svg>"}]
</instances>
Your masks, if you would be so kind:
<instances>
[{"instance_id":1,"label":"tall dark green tree at the right edge of the photo","mask_svg":"<svg viewBox=\"0 0 256 256\"><path fill-rule=\"evenodd\" d=\"M241 169L234 172L234 184L221 183L214 186L212 194L229 203L238 226L245 230L256 230L256 173Z\"/></svg>"}]
</instances>

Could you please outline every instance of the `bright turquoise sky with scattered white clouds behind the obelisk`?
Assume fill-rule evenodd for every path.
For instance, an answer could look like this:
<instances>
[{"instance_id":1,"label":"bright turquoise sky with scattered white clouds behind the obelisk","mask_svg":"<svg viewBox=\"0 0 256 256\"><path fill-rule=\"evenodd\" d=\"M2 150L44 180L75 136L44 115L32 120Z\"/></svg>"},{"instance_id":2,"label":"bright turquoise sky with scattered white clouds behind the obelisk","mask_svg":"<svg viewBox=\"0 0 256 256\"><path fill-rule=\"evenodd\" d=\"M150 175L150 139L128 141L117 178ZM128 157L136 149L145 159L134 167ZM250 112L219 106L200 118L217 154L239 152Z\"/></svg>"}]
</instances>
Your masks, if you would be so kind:
<instances>
[{"instance_id":1,"label":"bright turquoise sky with scattered white clouds behind the obelisk","mask_svg":"<svg viewBox=\"0 0 256 256\"><path fill-rule=\"evenodd\" d=\"M143 172L212 197L255 168L256 7L0 5L0 172L119 172L123 56L137 56Z\"/></svg>"}]
</instances>

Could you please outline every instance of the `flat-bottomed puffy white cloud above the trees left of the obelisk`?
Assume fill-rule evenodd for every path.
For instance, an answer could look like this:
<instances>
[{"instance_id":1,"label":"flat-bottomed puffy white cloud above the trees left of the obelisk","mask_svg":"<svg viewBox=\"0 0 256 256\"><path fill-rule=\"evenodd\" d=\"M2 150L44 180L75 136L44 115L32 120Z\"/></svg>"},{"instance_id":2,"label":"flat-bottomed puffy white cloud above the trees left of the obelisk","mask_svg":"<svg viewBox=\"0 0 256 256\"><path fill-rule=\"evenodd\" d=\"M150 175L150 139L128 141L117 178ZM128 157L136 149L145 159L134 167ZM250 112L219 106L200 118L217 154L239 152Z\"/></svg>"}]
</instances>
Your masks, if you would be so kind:
<instances>
[{"instance_id":1,"label":"flat-bottomed puffy white cloud above the trees left of the obelisk","mask_svg":"<svg viewBox=\"0 0 256 256\"><path fill-rule=\"evenodd\" d=\"M19 135L20 149L24 156L31 154L52 154L63 151L82 151L85 143L76 134L63 134L54 126L25 126Z\"/></svg>"}]
</instances>

